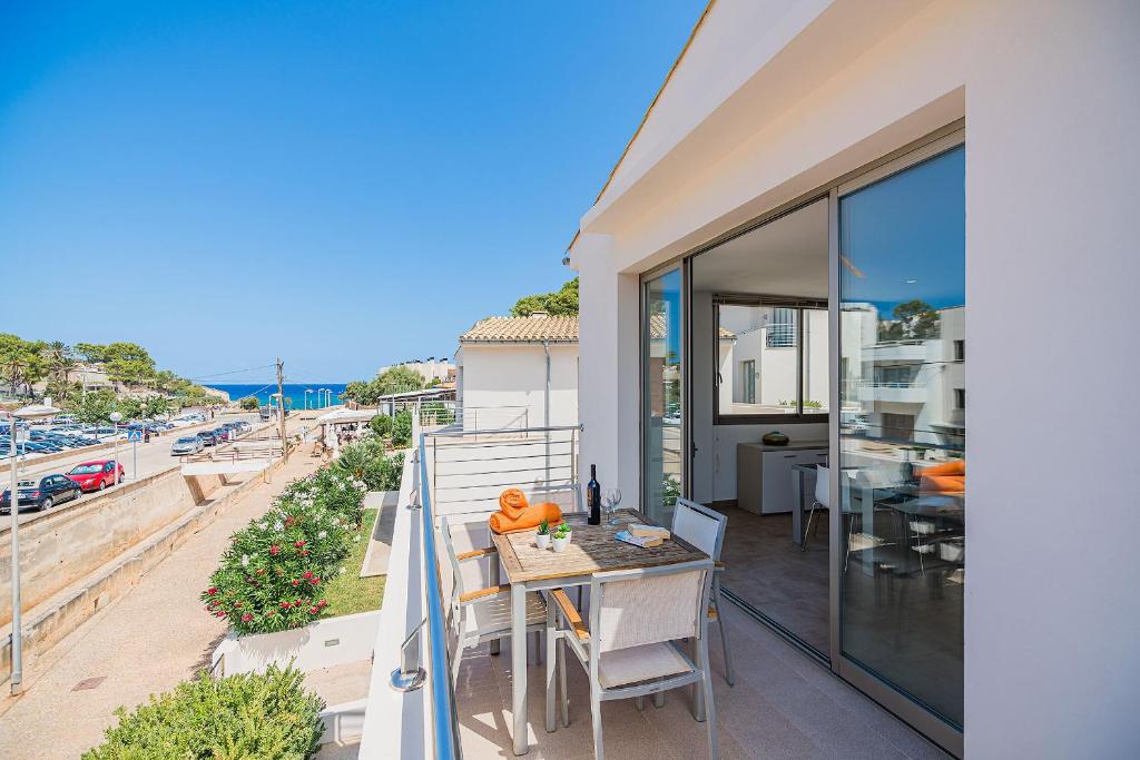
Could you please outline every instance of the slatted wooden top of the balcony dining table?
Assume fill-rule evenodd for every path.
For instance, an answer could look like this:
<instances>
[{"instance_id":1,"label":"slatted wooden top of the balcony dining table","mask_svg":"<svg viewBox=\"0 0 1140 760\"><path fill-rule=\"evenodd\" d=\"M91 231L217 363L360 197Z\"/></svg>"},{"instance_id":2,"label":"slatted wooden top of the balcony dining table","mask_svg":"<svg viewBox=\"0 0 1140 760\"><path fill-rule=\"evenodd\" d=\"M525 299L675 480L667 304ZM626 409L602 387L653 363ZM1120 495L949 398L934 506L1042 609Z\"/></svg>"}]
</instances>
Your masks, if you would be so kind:
<instances>
[{"instance_id":1,"label":"slatted wooden top of the balcony dining table","mask_svg":"<svg viewBox=\"0 0 1140 760\"><path fill-rule=\"evenodd\" d=\"M498 549L503 567L512 583L526 583L555 578L573 578L591 575L608 570L634 570L671 565L678 562L691 562L708 558L708 555L674 537L661 546L641 548L619 541L614 536L625 530L626 523L649 521L633 509L618 509L617 516L622 520L619 525L606 525L605 516L601 525L586 524L586 515L564 515L573 534L570 546L561 554L553 549L539 549L535 546L536 530L518 533L491 533L495 548ZM553 532L553 531L552 531Z\"/></svg>"}]
</instances>

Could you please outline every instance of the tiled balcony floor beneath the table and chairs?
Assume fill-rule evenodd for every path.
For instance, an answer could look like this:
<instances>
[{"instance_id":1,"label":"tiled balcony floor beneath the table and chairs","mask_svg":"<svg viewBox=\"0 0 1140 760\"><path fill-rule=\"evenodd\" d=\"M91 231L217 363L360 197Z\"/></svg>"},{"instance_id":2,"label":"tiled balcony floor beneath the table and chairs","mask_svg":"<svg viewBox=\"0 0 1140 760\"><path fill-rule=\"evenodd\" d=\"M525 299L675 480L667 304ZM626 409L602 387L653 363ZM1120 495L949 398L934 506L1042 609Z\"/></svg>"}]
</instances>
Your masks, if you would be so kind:
<instances>
[{"instance_id":1,"label":"tiled balcony floor beneath the table and chairs","mask_svg":"<svg viewBox=\"0 0 1140 760\"><path fill-rule=\"evenodd\" d=\"M718 632L712 635L712 686L722 758L946 758L905 724L839 680L774 634L725 604L736 685L722 673ZM593 757L588 685L573 655L568 656L570 726L544 728L544 668L528 668L529 758ZM463 754L467 760L512 758L511 656L486 647L469 652L457 686ZM602 704L606 757L695 760L706 757L705 726L689 711L689 690L667 693L657 709L646 700L638 712L632 700Z\"/></svg>"}]
</instances>

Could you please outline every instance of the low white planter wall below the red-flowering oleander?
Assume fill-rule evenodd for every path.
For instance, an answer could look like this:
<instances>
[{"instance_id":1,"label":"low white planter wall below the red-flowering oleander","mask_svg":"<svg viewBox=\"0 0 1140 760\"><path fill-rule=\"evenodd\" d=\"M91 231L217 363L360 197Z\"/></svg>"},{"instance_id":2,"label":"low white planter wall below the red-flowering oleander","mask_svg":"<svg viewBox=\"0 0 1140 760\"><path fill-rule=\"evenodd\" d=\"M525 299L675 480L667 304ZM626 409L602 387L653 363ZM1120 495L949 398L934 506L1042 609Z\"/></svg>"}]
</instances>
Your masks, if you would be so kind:
<instances>
[{"instance_id":1,"label":"low white planter wall below the red-flowering oleander","mask_svg":"<svg viewBox=\"0 0 1140 760\"><path fill-rule=\"evenodd\" d=\"M261 672L270 664L293 662L301 671L319 670L372 657L380 611L341 615L276 634L230 632L211 657L215 676Z\"/></svg>"}]
</instances>

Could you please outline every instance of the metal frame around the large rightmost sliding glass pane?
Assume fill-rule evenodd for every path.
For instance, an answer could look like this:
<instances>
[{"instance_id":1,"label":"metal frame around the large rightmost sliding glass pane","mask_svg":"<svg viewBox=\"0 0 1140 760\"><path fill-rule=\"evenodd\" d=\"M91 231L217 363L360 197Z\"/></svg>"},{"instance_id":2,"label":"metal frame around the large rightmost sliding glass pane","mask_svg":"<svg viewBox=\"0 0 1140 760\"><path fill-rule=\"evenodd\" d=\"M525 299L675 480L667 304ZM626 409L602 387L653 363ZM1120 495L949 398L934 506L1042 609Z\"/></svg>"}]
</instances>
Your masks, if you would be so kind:
<instances>
[{"instance_id":1,"label":"metal frame around the large rightmost sliding glass pane","mask_svg":"<svg viewBox=\"0 0 1140 760\"><path fill-rule=\"evenodd\" d=\"M952 150L966 142L966 130L961 122L950 128L939 130L928 136L918 144L897 152L893 157L877 162L872 167L854 173L845 181L834 183L828 193L828 332L830 341L829 351L829 384L828 406L836 411L831 415L828 426L828 461L832 466L829 468L828 497L831 504L840 504L840 476L842 472L837 466L840 460L839 425L841 420L840 408L840 377L839 368L842 357L842 332L840 329L840 268L842 262L839 258L839 198L849 195L860 188L886 179L893 174L903 172L925 161L934 158L943 153ZM829 509L829 537L830 544L830 629L831 629L831 670L840 678L852 684L883 708L895 713L898 718L912 726L915 730L926 734L935 743L953 753L956 757L963 754L962 732L943 721L933 712L927 710L921 703L909 694L899 690L888 681L879 678L866 670L855 660L847 657L842 652L842 510ZM964 668L964 659L963 659Z\"/></svg>"}]
</instances>

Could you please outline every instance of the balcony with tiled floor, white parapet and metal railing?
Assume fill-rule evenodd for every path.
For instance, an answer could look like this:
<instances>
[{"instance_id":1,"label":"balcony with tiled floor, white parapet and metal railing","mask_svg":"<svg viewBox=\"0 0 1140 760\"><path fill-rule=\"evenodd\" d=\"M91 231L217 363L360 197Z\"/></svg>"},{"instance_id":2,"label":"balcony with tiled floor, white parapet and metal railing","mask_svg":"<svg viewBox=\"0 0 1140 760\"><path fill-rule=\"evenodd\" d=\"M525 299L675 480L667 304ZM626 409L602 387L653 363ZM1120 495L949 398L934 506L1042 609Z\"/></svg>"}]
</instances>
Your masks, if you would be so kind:
<instances>
[{"instance_id":1,"label":"balcony with tiled floor, white parapet and metal railing","mask_svg":"<svg viewBox=\"0 0 1140 760\"><path fill-rule=\"evenodd\" d=\"M441 590L433 528L441 515L467 521L471 546L486 545L486 515L503 488L564 488L577 492L577 428L512 428L422 433L405 465L391 572L377 636L360 758L514 757L510 641L469 649L456 680L450 672L447 596ZM470 546L459 546L463 551ZM486 569L484 569L486 570ZM724 758L943 758L923 737L814 660L727 604L724 615L736 680L723 678L719 646L711 646L714 698ZM528 757L588 758L592 721L585 671L567 663L570 725L544 727L545 668L527 668ZM423 686L392 688L391 677L421 673ZM632 700L602 706L611 758L706 757L705 727L690 713L687 689L665 704Z\"/></svg>"}]
</instances>

